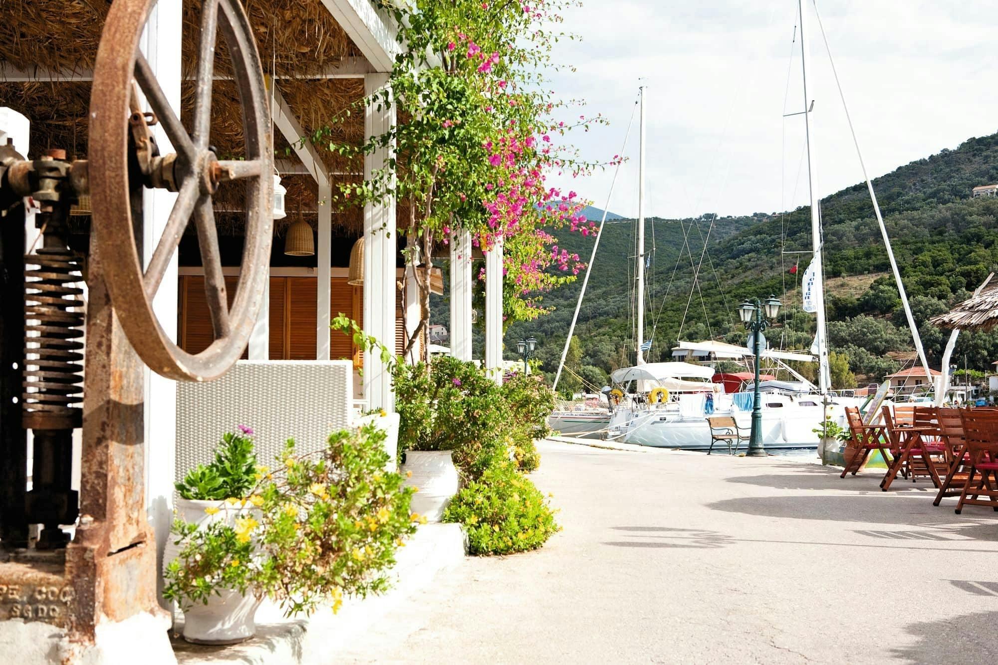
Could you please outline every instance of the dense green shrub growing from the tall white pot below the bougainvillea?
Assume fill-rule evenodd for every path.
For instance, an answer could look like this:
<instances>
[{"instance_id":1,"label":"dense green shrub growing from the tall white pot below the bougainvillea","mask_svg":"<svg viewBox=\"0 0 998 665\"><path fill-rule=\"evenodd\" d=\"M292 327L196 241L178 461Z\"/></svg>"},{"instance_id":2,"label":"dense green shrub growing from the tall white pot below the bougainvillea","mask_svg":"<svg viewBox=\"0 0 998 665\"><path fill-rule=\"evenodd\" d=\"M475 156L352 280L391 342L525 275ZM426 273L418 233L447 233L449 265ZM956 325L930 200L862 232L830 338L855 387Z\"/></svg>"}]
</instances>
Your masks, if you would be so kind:
<instances>
[{"instance_id":1,"label":"dense green shrub growing from the tall white pot below the bougainvillea","mask_svg":"<svg viewBox=\"0 0 998 665\"><path fill-rule=\"evenodd\" d=\"M473 362L440 356L429 368L399 364L393 377L399 452L453 450L454 463L470 478L507 454L503 393Z\"/></svg>"}]
</instances>

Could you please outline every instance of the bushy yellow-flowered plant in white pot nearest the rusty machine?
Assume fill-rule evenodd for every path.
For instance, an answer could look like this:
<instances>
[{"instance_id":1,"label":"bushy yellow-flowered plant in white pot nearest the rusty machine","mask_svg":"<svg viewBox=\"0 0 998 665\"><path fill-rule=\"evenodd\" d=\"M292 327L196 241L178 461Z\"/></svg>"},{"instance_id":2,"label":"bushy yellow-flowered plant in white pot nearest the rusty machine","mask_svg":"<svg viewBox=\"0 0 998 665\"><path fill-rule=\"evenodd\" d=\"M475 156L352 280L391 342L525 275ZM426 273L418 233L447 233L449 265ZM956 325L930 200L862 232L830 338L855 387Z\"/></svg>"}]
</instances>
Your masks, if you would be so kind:
<instances>
[{"instance_id":1,"label":"bushy yellow-flowered plant in white pot nearest the rusty machine","mask_svg":"<svg viewBox=\"0 0 998 665\"><path fill-rule=\"evenodd\" d=\"M291 615L321 603L336 611L345 594L387 588L395 550L421 516L410 513L412 489L384 469L384 438L367 424L333 432L324 449L300 455L290 440L274 471L257 468L247 493L229 497L249 512L175 522L180 549L164 595L184 610L185 639L250 638L264 596Z\"/></svg>"}]
</instances>

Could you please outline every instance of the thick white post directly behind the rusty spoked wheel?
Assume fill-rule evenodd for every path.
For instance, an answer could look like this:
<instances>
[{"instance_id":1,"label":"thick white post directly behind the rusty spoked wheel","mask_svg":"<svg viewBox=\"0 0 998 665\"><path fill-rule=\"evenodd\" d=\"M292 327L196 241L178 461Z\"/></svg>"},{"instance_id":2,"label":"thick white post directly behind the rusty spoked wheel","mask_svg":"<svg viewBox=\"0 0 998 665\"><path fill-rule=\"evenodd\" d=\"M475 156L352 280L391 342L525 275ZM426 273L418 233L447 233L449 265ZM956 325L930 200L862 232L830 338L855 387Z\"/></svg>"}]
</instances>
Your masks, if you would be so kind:
<instances>
[{"instance_id":1,"label":"thick white post directly behind the rusty spoked wheel","mask_svg":"<svg viewBox=\"0 0 998 665\"><path fill-rule=\"evenodd\" d=\"M157 3L143 33L142 51L170 105L181 113L181 35L183 3L180 0ZM173 145L163 130L153 132L162 154L172 153ZM161 189L143 193L143 256L148 262L167 224L177 195ZM163 330L177 339L177 254L171 260L160 290L153 300L153 311ZM145 452L146 509L156 532L157 562L162 563L163 548L173 522L174 468L177 449L177 383L146 368L145 377ZM162 584L162 580L159 581Z\"/></svg>"}]
</instances>

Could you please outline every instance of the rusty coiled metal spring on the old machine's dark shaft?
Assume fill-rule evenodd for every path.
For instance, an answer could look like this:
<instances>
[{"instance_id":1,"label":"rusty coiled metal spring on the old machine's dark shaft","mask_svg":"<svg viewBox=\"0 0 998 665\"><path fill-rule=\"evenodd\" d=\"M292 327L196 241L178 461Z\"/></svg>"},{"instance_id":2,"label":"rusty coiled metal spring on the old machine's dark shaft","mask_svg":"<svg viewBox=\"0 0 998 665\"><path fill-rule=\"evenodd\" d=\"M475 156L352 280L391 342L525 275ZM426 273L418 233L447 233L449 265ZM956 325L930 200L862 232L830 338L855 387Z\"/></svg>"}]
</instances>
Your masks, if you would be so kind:
<instances>
[{"instance_id":1,"label":"rusty coiled metal spring on the old machine's dark shaft","mask_svg":"<svg viewBox=\"0 0 998 665\"><path fill-rule=\"evenodd\" d=\"M83 281L81 264L65 247L41 248L25 264L23 411L78 415L84 315L83 290L73 285Z\"/></svg>"}]
</instances>

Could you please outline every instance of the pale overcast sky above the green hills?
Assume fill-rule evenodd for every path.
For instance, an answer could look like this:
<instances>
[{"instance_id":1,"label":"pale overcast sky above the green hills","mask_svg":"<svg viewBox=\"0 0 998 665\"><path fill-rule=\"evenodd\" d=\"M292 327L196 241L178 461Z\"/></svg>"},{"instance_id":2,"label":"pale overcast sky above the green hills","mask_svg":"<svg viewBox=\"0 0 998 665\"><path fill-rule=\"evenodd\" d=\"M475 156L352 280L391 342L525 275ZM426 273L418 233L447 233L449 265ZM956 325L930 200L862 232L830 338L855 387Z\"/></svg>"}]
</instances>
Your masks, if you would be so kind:
<instances>
[{"instance_id":1,"label":"pale overcast sky above the green hills","mask_svg":"<svg viewBox=\"0 0 998 665\"><path fill-rule=\"evenodd\" d=\"M647 215L807 203L803 119L782 118L803 107L796 0L584 2L566 13L566 28L582 41L562 41L555 52L577 71L555 75L554 89L610 118L572 137L586 158L605 160L620 152L638 79L647 79ZM804 8L812 146L826 196L862 172L810 0ZM817 0L817 9L871 177L998 131L998 0ZM637 117L625 155L609 209L632 217ZM611 178L607 170L558 184L603 208Z\"/></svg>"}]
</instances>

